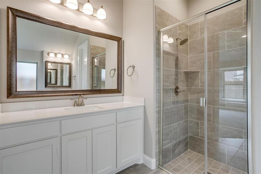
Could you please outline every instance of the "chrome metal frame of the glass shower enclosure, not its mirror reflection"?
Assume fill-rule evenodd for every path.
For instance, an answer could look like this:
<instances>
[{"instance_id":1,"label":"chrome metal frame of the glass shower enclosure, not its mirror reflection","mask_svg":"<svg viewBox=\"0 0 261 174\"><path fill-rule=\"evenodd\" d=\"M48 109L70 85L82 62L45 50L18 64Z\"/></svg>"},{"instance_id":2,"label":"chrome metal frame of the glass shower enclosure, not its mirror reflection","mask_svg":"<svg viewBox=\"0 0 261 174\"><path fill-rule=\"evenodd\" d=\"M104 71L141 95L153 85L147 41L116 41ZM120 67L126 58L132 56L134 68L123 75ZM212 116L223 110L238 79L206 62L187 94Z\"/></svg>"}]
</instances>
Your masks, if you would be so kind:
<instances>
[{"instance_id":1,"label":"chrome metal frame of the glass shower enclosure, not its mirror reflection","mask_svg":"<svg viewBox=\"0 0 261 174\"><path fill-rule=\"evenodd\" d=\"M158 153L158 168L162 169L163 171L172 174L170 171L168 171L166 168L162 166L162 150L163 150L163 32L166 30L169 30L171 28L177 27L182 23L187 23L190 21L193 21L195 19L198 19L200 17L205 18L205 33L207 33L207 14L211 13L213 11L219 10L223 7L229 6L233 3L239 2L242 0L231 0L229 2L226 2L224 4L221 4L220 6L211 8L205 12L202 12L200 14L197 14L193 17L190 17L188 19L185 19L183 21L180 21L174 25L162 28L158 30L158 44L159 44L159 77L160 77L160 96L159 103L160 103L160 118L159 118L159 131L158 131L158 144L159 144L159 153ZM248 143L248 173L253 173L253 162L252 162L252 130L251 130L251 17L252 17L252 0L247 0L247 143ZM207 37L205 35L205 60L207 60ZM205 61L205 69L207 70L207 61ZM206 71L207 72L207 71ZM207 79L207 73L205 73L205 79ZM206 106L207 106L207 83L205 84L205 98L206 98ZM204 122L207 122L207 107L205 107L205 120ZM207 154L207 124L205 124L205 154ZM205 155L205 173L207 173L207 155Z\"/></svg>"}]
</instances>

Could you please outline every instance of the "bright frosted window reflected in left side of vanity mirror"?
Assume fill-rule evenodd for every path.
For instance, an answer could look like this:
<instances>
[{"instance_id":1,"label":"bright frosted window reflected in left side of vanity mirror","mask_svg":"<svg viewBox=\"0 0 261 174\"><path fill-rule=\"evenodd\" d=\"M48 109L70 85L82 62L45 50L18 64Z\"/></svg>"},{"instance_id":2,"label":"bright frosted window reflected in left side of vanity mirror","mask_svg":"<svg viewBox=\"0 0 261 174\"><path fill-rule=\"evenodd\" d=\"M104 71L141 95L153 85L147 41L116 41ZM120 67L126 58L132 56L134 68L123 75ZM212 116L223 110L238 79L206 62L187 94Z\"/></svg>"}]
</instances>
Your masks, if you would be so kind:
<instances>
[{"instance_id":1,"label":"bright frosted window reflected in left side of vanity mirror","mask_svg":"<svg viewBox=\"0 0 261 174\"><path fill-rule=\"evenodd\" d=\"M17 61L17 91L36 90L37 62Z\"/></svg>"}]
</instances>

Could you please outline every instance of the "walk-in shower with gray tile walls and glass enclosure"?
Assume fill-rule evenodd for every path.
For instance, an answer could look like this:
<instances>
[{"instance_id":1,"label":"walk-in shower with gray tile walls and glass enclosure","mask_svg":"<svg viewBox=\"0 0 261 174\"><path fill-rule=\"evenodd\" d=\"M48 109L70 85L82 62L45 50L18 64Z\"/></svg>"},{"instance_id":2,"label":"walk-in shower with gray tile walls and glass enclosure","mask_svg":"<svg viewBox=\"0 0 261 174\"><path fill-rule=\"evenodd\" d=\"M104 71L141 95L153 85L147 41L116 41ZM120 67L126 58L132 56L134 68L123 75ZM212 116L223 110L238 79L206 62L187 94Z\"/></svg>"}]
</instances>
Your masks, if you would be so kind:
<instances>
[{"instance_id":1,"label":"walk-in shower with gray tile walls and glass enclosure","mask_svg":"<svg viewBox=\"0 0 261 174\"><path fill-rule=\"evenodd\" d=\"M248 173L247 1L180 22L156 7L156 17L159 167ZM166 26L166 19L173 23Z\"/></svg>"}]
</instances>

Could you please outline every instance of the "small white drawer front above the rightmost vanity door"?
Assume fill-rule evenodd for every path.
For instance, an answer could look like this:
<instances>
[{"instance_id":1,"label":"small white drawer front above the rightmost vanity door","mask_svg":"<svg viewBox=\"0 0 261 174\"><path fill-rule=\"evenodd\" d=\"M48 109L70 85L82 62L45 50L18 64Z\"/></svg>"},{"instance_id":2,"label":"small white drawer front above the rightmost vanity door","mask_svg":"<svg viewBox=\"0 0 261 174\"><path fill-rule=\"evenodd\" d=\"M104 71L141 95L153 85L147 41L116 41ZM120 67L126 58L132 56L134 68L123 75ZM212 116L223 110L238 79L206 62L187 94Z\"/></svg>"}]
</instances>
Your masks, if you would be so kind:
<instances>
[{"instance_id":1,"label":"small white drawer front above the rightmost vanity door","mask_svg":"<svg viewBox=\"0 0 261 174\"><path fill-rule=\"evenodd\" d=\"M117 112L117 122L124 122L138 118L142 118L142 108L123 110Z\"/></svg>"}]
</instances>

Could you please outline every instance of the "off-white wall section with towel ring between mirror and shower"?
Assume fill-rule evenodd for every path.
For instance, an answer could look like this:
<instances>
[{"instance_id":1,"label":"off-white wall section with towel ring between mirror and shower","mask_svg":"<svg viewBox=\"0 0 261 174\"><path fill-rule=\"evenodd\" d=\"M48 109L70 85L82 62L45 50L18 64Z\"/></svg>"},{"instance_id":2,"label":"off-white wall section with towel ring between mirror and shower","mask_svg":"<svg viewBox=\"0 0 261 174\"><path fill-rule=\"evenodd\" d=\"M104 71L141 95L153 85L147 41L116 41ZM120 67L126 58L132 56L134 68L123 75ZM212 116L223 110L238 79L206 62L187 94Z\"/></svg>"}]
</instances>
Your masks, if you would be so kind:
<instances>
[{"instance_id":1,"label":"off-white wall section with towel ring between mirror and shower","mask_svg":"<svg viewBox=\"0 0 261 174\"><path fill-rule=\"evenodd\" d=\"M123 1L124 95L145 98L144 154L155 158L156 59L153 1ZM134 64L131 77L127 67Z\"/></svg>"}]
</instances>

